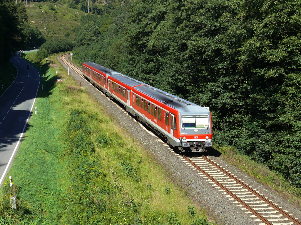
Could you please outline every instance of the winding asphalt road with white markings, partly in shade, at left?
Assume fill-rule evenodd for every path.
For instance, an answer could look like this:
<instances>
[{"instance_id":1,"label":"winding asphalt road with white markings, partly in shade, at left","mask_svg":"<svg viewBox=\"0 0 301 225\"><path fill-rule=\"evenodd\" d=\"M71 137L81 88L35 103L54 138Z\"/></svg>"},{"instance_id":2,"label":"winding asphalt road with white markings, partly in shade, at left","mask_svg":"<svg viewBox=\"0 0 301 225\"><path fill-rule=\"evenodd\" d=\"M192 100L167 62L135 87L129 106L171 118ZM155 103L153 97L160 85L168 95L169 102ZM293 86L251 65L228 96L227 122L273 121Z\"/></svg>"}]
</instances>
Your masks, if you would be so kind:
<instances>
[{"instance_id":1,"label":"winding asphalt road with white markings, partly in shade, at left","mask_svg":"<svg viewBox=\"0 0 301 225\"><path fill-rule=\"evenodd\" d=\"M18 55L11 61L18 74L0 96L0 188L19 149L40 84L39 72L34 67L27 70L27 62Z\"/></svg>"}]
</instances>

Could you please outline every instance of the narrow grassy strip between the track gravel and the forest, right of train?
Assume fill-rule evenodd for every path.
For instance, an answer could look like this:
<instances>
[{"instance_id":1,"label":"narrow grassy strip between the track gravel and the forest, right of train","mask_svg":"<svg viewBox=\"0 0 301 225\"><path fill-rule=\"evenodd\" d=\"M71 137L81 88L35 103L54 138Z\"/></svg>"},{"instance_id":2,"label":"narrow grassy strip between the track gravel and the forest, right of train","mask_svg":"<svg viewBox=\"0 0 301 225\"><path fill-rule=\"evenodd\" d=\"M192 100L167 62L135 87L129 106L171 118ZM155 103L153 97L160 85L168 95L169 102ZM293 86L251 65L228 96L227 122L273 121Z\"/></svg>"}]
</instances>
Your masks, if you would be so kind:
<instances>
[{"instance_id":1,"label":"narrow grassy strip between the track gravel and the forest, right of train","mask_svg":"<svg viewBox=\"0 0 301 225\"><path fill-rule=\"evenodd\" d=\"M281 174L256 163L245 155L240 155L231 146L215 146L222 158L257 179L258 182L274 188L281 196L294 204L301 205L301 188L292 186Z\"/></svg>"}]
</instances>

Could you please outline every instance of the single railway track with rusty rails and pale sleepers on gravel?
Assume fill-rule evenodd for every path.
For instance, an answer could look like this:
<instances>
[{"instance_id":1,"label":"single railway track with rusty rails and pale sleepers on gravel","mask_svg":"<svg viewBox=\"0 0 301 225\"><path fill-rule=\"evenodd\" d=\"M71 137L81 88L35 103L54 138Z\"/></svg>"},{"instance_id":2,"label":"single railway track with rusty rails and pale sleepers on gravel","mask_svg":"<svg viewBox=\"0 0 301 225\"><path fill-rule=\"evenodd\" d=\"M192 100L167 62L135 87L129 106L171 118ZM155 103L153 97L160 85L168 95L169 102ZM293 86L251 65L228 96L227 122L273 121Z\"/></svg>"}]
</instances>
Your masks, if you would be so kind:
<instances>
[{"instance_id":1,"label":"single railway track with rusty rails and pale sleepers on gravel","mask_svg":"<svg viewBox=\"0 0 301 225\"><path fill-rule=\"evenodd\" d=\"M82 70L70 63L66 57L70 55L64 54L60 56L60 59L69 66L75 73L82 77ZM84 77L82 77L86 82ZM92 84L91 84L92 85ZM99 91L102 95L103 92ZM259 194L259 191L252 189L251 186L238 179L234 174L229 173L224 168L210 160L206 156L187 157L185 155L178 155L175 153L166 143L164 143L157 135L145 128L141 123L137 122L129 113L122 107L111 101L120 108L127 116L141 126L145 131L152 135L155 139L161 142L169 151L175 154L183 163L193 168L201 177L205 178L207 182L213 185L225 197L233 201L233 204L237 205L242 211L248 214L252 219L257 221L259 225L301 225L298 218L293 217L286 210L279 207L277 203L273 203L272 200Z\"/></svg>"}]
</instances>

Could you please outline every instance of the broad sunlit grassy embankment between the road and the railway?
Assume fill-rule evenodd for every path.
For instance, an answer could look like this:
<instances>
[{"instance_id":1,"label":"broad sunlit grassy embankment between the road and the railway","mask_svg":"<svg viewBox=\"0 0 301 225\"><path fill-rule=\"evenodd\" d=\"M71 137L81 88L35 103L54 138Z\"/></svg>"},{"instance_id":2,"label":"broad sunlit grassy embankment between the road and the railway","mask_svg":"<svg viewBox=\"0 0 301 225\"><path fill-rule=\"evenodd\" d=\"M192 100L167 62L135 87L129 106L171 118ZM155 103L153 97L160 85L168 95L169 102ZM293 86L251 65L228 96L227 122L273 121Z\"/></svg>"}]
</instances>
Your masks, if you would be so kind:
<instances>
[{"instance_id":1,"label":"broad sunlit grassy embankment between the road and the railway","mask_svg":"<svg viewBox=\"0 0 301 225\"><path fill-rule=\"evenodd\" d=\"M205 212L49 59L55 64L42 67L37 115L8 174L14 185L6 179L1 190L0 222L208 224ZM9 206L13 195L16 210Z\"/></svg>"}]
</instances>

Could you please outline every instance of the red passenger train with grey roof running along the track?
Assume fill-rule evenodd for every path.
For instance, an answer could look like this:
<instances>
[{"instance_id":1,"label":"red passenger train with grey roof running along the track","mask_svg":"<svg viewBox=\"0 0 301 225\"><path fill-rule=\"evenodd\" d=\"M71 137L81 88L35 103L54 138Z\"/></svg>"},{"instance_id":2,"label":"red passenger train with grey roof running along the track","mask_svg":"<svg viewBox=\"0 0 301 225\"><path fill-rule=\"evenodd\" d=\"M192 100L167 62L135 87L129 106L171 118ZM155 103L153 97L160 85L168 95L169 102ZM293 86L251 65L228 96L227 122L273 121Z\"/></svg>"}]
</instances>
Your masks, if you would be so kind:
<instances>
[{"instance_id":1,"label":"red passenger train with grey roof running along the track","mask_svg":"<svg viewBox=\"0 0 301 225\"><path fill-rule=\"evenodd\" d=\"M83 63L82 75L124 105L167 144L178 147L178 153L205 152L206 147L212 146L211 113L205 107L94 62Z\"/></svg>"}]
</instances>

